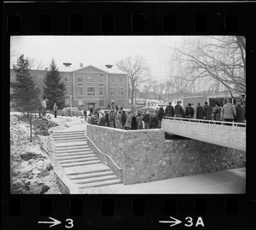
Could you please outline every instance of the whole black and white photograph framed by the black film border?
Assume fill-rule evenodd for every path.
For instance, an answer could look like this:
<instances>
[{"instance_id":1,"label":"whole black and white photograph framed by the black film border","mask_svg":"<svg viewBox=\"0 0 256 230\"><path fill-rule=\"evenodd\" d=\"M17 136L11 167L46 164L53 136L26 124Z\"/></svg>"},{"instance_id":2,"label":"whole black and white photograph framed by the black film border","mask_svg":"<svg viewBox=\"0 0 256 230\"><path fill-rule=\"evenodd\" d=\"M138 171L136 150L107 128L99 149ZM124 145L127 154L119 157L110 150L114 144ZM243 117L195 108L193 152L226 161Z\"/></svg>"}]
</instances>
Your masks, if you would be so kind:
<instances>
[{"instance_id":1,"label":"whole black and white photograph framed by the black film border","mask_svg":"<svg viewBox=\"0 0 256 230\"><path fill-rule=\"evenodd\" d=\"M11 194L246 193L246 37L11 36L9 68Z\"/></svg>"}]
</instances>

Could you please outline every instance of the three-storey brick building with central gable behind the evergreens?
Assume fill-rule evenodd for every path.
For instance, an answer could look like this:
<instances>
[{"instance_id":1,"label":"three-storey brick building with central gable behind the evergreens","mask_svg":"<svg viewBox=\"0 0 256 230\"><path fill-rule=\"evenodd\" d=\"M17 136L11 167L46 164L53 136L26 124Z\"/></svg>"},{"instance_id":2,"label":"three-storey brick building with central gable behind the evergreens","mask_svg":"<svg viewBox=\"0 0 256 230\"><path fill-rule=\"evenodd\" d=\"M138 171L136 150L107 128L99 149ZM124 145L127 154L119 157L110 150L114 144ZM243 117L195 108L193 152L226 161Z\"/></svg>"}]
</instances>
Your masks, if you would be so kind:
<instances>
[{"instance_id":1,"label":"three-storey brick building with central gable behind the evergreens","mask_svg":"<svg viewBox=\"0 0 256 230\"><path fill-rule=\"evenodd\" d=\"M105 68L65 65L58 69L61 80L67 86L67 106L70 104L70 95L72 95L72 106L79 109L88 110L89 106L101 109L108 109L110 106L129 106L128 75L114 70L112 65L106 65ZM42 94L45 73L46 69L31 70L31 76ZM10 81L15 81L13 69L10 70Z\"/></svg>"}]
</instances>

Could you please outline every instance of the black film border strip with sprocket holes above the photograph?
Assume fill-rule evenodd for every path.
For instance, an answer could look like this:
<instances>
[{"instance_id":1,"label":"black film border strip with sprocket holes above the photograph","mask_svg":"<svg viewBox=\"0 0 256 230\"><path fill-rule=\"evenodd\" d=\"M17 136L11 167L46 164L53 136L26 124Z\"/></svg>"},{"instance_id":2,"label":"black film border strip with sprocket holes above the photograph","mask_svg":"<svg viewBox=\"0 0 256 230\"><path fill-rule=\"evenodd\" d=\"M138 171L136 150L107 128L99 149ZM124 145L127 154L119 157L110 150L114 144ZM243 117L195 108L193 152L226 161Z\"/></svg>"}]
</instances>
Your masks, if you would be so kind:
<instances>
[{"instance_id":1,"label":"black film border strip with sprocket holes above the photograph","mask_svg":"<svg viewBox=\"0 0 256 230\"><path fill-rule=\"evenodd\" d=\"M15 7L14 7L15 5ZM244 34L254 3L7 3L12 34Z\"/></svg>"}]
</instances>

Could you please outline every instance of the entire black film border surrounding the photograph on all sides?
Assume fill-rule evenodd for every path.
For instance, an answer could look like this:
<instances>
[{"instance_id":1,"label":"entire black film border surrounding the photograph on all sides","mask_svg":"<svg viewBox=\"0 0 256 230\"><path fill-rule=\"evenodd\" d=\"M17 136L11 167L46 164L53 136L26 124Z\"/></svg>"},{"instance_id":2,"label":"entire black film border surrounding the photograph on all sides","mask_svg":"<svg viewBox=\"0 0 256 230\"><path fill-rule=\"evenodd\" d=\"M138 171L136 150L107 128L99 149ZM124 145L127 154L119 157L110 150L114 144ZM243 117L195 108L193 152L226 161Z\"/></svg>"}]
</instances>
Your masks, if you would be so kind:
<instances>
[{"instance_id":1,"label":"entire black film border surrounding the photograph on all sides","mask_svg":"<svg viewBox=\"0 0 256 230\"><path fill-rule=\"evenodd\" d=\"M8 56L6 38L12 35L240 34L247 37L247 72L255 76L255 11L255 3L5 3L3 49ZM253 105L251 100L248 97L248 104ZM61 221L56 229L253 228L253 158L255 154L247 153L246 195L44 197L9 195L8 189L3 190L4 227L49 229L49 222L56 220L54 223ZM9 187L9 181L4 187Z\"/></svg>"}]
</instances>

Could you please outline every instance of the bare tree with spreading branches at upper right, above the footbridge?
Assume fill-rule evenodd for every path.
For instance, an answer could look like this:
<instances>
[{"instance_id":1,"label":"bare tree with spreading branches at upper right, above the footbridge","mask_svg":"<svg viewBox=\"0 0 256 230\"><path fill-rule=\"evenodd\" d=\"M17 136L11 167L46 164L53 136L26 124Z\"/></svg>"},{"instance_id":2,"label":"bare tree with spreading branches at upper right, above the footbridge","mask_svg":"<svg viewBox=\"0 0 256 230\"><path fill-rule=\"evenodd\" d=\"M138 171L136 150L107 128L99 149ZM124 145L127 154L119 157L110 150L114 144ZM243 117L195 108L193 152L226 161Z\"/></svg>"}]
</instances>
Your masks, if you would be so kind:
<instances>
[{"instance_id":1,"label":"bare tree with spreading branches at upper right, above the footbridge","mask_svg":"<svg viewBox=\"0 0 256 230\"><path fill-rule=\"evenodd\" d=\"M197 37L189 39L180 49L172 48L174 59L186 73L185 80L199 83L211 78L232 92L246 92L245 37Z\"/></svg>"}]
</instances>

